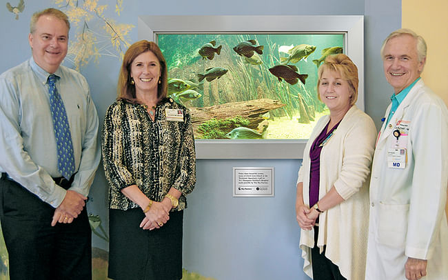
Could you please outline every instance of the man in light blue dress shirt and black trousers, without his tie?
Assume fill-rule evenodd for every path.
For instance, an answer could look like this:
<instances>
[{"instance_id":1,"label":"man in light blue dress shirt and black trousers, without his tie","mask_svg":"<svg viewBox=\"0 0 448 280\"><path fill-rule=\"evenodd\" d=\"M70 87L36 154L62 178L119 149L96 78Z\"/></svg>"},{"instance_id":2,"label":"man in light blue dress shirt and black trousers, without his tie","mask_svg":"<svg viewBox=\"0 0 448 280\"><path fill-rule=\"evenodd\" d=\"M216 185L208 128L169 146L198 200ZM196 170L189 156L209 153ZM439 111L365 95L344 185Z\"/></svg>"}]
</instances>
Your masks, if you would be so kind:
<instances>
[{"instance_id":1,"label":"man in light blue dress shirt and black trousers, without his tie","mask_svg":"<svg viewBox=\"0 0 448 280\"><path fill-rule=\"evenodd\" d=\"M100 160L99 121L85 78L61 66L69 29L59 10L34 13L32 57L0 75L0 214L12 280L92 278L85 202ZM69 179L58 168L50 74L70 126Z\"/></svg>"}]
</instances>

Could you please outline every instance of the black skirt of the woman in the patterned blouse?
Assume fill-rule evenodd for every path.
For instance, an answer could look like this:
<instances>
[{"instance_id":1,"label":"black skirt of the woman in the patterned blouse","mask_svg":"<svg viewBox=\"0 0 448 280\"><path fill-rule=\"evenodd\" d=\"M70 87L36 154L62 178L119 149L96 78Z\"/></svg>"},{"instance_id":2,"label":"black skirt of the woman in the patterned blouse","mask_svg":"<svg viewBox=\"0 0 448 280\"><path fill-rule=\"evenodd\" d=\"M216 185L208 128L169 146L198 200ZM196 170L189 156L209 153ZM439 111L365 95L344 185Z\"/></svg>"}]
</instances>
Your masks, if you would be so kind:
<instances>
[{"instance_id":1,"label":"black skirt of the woman in the patterned blouse","mask_svg":"<svg viewBox=\"0 0 448 280\"><path fill-rule=\"evenodd\" d=\"M170 212L159 229L143 230L140 208L109 210L109 271L114 280L182 278L183 211Z\"/></svg>"}]
</instances>

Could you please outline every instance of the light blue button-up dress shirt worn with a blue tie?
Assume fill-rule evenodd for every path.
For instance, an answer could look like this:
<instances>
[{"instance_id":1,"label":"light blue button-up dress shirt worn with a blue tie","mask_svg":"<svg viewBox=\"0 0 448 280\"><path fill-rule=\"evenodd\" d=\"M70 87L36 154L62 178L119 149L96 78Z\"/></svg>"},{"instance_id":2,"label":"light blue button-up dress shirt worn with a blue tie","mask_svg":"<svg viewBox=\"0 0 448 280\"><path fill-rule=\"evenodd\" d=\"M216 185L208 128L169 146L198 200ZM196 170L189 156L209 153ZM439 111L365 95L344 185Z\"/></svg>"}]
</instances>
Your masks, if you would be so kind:
<instances>
[{"instance_id":1,"label":"light blue button-up dress shirt worn with a blue tie","mask_svg":"<svg viewBox=\"0 0 448 280\"><path fill-rule=\"evenodd\" d=\"M101 155L98 115L88 83L79 72L60 66L54 74L61 77L56 87L72 134L77 174L70 190L87 196ZM61 173L50 112L49 75L32 58L0 75L0 172L57 208L66 191L52 180Z\"/></svg>"}]
</instances>

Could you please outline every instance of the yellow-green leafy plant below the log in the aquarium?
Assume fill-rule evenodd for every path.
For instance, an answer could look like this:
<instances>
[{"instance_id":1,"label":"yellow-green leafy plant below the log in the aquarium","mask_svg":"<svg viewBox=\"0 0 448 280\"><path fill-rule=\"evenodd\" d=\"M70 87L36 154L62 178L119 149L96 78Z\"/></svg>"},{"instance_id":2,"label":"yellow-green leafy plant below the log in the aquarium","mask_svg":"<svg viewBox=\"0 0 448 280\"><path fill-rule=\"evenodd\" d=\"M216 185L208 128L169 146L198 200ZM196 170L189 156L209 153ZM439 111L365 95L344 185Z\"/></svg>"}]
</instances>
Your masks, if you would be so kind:
<instances>
[{"instance_id":1,"label":"yellow-green leafy plant below the log in the aquarium","mask_svg":"<svg viewBox=\"0 0 448 280\"><path fill-rule=\"evenodd\" d=\"M228 119L210 119L198 126L201 139L225 139L225 134L239 126L248 126L250 121L241 116Z\"/></svg>"}]
</instances>

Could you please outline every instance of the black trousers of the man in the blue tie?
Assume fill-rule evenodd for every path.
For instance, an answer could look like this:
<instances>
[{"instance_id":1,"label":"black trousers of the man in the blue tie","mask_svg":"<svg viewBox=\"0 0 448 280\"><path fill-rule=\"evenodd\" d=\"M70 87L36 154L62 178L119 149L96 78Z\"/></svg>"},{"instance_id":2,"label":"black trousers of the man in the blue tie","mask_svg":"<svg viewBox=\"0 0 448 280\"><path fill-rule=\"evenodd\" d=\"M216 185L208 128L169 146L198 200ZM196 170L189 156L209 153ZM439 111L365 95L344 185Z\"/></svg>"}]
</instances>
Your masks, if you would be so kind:
<instances>
[{"instance_id":1,"label":"black trousers of the man in the blue tie","mask_svg":"<svg viewBox=\"0 0 448 280\"><path fill-rule=\"evenodd\" d=\"M85 208L72 223L52 227L54 208L5 174L0 206L11 280L92 279L92 233Z\"/></svg>"}]
</instances>

